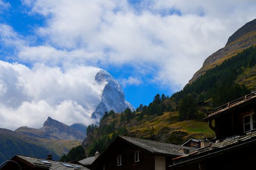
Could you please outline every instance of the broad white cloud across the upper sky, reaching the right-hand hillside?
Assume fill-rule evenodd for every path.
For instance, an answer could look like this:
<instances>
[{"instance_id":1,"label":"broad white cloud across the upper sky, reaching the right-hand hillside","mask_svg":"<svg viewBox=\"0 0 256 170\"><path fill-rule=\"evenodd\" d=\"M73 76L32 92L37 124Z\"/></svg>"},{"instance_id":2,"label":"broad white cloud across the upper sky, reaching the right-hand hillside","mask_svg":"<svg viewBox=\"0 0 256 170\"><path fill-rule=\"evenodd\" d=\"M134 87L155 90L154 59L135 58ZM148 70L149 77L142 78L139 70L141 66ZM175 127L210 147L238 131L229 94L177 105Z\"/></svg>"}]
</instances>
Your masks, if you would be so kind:
<instances>
[{"instance_id":1,"label":"broad white cloud across the upper sky, reaching the right-hand hillside","mask_svg":"<svg viewBox=\"0 0 256 170\"><path fill-rule=\"evenodd\" d=\"M25 2L32 14L46 17L37 33L49 46L27 46L19 56L98 66L146 64L157 72L155 79L177 89L255 17L251 1L142 1L139 12L126 1ZM181 15L168 15L174 10Z\"/></svg>"}]
</instances>

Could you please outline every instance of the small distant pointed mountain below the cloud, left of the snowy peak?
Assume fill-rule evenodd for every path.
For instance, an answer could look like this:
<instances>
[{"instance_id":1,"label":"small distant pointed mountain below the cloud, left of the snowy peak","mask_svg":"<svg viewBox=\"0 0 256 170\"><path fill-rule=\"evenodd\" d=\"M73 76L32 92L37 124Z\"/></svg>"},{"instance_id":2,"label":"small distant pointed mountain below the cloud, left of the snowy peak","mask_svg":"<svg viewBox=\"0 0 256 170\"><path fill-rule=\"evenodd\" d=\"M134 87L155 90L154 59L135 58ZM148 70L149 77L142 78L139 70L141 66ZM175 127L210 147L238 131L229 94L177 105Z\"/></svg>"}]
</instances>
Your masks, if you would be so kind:
<instances>
[{"instance_id":1,"label":"small distant pointed mountain below the cloud, left of the snowy peak","mask_svg":"<svg viewBox=\"0 0 256 170\"><path fill-rule=\"evenodd\" d=\"M47 118L44 126L40 129L20 127L16 129L15 132L38 138L62 140L83 140L86 136L82 132L62 124L51 117Z\"/></svg>"}]
</instances>

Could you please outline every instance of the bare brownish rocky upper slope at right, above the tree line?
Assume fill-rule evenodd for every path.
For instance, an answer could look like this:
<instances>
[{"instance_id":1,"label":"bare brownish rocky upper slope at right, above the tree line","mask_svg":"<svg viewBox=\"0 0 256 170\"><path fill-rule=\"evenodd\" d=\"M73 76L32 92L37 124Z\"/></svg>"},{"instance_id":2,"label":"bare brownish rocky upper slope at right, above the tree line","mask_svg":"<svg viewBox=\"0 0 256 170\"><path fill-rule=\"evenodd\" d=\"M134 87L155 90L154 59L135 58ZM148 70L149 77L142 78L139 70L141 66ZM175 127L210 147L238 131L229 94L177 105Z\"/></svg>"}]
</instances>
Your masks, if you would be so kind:
<instances>
[{"instance_id":1,"label":"bare brownish rocky upper slope at right, above the tree line","mask_svg":"<svg viewBox=\"0 0 256 170\"><path fill-rule=\"evenodd\" d=\"M256 45L256 19L246 23L228 38L225 47L210 55L204 61L203 67L195 73L189 83L197 80L208 69L221 64L225 59L237 55L252 45Z\"/></svg>"}]
</instances>

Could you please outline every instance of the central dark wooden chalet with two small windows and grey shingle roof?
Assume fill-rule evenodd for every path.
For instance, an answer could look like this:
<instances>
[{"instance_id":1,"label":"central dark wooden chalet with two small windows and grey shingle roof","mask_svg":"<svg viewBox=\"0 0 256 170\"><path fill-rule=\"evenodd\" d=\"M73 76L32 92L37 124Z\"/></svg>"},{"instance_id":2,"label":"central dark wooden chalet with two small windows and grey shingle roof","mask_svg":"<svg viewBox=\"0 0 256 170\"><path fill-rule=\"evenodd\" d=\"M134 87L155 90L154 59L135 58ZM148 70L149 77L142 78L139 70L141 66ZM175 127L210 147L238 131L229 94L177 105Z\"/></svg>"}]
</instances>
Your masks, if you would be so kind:
<instances>
[{"instance_id":1,"label":"central dark wooden chalet with two small windows and grey shingle roof","mask_svg":"<svg viewBox=\"0 0 256 170\"><path fill-rule=\"evenodd\" d=\"M165 170L173 158L191 151L194 151L194 149L180 145L118 136L95 159L91 169Z\"/></svg>"}]
</instances>

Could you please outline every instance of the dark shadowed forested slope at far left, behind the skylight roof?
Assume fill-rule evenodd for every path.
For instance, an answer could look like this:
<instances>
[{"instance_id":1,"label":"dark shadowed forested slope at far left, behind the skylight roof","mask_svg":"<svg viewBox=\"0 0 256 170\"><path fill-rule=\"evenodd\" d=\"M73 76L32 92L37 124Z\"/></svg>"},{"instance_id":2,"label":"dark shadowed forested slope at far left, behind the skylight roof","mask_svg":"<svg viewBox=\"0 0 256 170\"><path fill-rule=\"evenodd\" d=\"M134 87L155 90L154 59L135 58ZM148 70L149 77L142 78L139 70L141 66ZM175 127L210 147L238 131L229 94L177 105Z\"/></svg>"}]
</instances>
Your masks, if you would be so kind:
<instances>
[{"instance_id":1,"label":"dark shadowed forested slope at far left, behind the skylight roof","mask_svg":"<svg viewBox=\"0 0 256 170\"><path fill-rule=\"evenodd\" d=\"M10 160L14 155L22 154L38 158L47 158L52 154L54 160L59 156L53 151L32 142L33 138L8 129L0 128L0 163Z\"/></svg>"}]
</instances>

